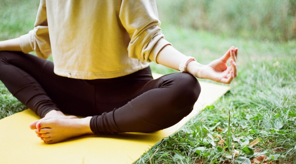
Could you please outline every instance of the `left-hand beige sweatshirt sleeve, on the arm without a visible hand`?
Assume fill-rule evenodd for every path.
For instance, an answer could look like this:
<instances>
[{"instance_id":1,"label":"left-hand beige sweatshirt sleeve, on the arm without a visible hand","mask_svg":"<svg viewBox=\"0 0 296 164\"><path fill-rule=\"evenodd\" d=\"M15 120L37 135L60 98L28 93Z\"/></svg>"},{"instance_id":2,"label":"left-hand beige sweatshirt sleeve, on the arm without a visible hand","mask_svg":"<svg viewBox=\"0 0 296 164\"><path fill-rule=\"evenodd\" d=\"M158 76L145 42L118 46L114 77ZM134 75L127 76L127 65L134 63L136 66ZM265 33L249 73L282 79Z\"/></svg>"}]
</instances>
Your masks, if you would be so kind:
<instances>
[{"instance_id":1,"label":"left-hand beige sweatshirt sleeve, on the arm without a visible hand","mask_svg":"<svg viewBox=\"0 0 296 164\"><path fill-rule=\"evenodd\" d=\"M52 54L45 0L40 1L34 29L20 36L20 47L24 53L35 51L36 55L43 59L47 59Z\"/></svg>"}]
</instances>

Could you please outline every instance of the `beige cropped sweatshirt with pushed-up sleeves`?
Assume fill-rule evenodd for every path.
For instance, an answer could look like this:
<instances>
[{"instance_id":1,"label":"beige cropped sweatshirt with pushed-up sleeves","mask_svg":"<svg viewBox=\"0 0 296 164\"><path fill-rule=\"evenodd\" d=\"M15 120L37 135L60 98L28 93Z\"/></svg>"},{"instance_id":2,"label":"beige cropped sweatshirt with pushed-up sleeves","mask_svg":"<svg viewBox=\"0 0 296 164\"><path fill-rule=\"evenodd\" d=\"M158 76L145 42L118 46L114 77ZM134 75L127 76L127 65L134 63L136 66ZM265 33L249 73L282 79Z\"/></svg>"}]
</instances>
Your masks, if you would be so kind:
<instances>
[{"instance_id":1,"label":"beige cropped sweatshirt with pushed-up sleeves","mask_svg":"<svg viewBox=\"0 0 296 164\"><path fill-rule=\"evenodd\" d=\"M164 39L155 0L41 0L22 51L53 57L54 73L77 79L131 74L156 61Z\"/></svg>"}]
</instances>

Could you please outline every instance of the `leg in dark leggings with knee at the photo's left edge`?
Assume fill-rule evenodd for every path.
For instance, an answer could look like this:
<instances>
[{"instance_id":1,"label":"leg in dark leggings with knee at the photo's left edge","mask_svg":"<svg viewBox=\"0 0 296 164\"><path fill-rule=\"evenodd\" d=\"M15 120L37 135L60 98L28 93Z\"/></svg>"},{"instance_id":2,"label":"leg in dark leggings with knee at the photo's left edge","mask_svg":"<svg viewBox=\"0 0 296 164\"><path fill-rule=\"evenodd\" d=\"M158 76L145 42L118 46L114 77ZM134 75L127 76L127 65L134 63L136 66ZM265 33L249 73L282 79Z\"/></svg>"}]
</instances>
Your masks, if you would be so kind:
<instances>
[{"instance_id":1,"label":"leg in dark leggings with knee at the photo's left edge","mask_svg":"<svg viewBox=\"0 0 296 164\"><path fill-rule=\"evenodd\" d=\"M91 116L93 86L61 77L51 61L14 51L0 52L0 80L18 100L43 118L51 110Z\"/></svg>"}]
</instances>

